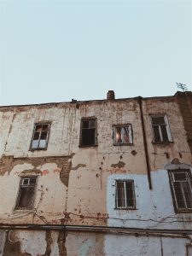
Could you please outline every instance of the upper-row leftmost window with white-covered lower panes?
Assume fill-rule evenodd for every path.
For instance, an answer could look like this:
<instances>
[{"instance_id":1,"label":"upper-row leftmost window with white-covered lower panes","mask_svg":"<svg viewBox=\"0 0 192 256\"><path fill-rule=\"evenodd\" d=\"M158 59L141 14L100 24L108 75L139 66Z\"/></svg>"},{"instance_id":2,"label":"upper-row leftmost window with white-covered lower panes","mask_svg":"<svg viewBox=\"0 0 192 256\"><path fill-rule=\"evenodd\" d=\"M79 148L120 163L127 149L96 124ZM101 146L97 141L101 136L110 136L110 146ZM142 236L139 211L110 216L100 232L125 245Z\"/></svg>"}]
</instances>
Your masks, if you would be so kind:
<instances>
[{"instance_id":1,"label":"upper-row leftmost window with white-covered lower panes","mask_svg":"<svg viewBox=\"0 0 192 256\"><path fill-rule=\"evenodd\" d=\"M31 149L46 149L49 138L49 124L35 124Z\"/></svg>"}]
</instances>

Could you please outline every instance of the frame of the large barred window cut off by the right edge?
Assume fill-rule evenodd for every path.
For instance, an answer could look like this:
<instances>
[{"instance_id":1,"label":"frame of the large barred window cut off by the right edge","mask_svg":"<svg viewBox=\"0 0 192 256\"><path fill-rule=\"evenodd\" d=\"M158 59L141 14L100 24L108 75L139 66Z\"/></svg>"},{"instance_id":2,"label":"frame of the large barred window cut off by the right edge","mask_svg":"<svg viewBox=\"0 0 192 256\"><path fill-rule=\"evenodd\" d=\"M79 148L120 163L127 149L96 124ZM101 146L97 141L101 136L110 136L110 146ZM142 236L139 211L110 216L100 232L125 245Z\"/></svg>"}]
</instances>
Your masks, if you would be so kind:
<instances>
[{"instance_id":1,"label":"frame of the large barred window cut off by the right edge","mask_svg":"<svg viewBox=\"0 0 192 256\"><path fill-rule=\"evenodd\" d=\"M185 177L186 177L186 181L175 181L175 177L174 177L174 174L176 173L185 173ZM186 175L187 174L187 175ZM184 204L185 204L185 207L178 207L177 205L177 195L176 195L176 192L175 192L175 189L174 189L174 185L173 183L186 183L188 182L189 183L189 188L190 188L190 191L189 191L189 200L192 201L192 175L191 175L191 172L189 169L177 169L177 170L168 170L168 175L169 175L169 182L170 182L170 188L171 188L171 192L172 192L172 202L173 202L173 207L174 207L174 211L176 213L184 213L184 212L192 212L192 207L189 208L187 207L187 203L186 203L186 196L183 192L183 186L181 185L180 188L182 190L182 195L183 195L183 201L184 201ZM174 177L174 179L173 179Z\"/></svg>"}]
</instances>

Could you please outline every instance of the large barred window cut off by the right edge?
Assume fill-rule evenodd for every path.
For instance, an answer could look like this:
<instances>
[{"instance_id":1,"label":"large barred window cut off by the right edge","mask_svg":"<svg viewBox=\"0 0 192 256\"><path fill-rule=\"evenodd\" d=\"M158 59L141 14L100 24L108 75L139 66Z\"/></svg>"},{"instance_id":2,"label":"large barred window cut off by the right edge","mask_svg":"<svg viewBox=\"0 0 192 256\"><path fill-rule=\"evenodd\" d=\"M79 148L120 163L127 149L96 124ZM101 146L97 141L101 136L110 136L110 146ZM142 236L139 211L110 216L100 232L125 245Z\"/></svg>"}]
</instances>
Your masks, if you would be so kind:
<instances>
[{"instance_id":1,"label":"large barred window cut off by the right edge","mask_svg":"<svg viewBox=\"0 0 192 256\"><path fill-rule=\"evenodd\" d=\"M169 171L176 212L192 212L191 174L189 170Z\"/></svg>"}]
</instances>

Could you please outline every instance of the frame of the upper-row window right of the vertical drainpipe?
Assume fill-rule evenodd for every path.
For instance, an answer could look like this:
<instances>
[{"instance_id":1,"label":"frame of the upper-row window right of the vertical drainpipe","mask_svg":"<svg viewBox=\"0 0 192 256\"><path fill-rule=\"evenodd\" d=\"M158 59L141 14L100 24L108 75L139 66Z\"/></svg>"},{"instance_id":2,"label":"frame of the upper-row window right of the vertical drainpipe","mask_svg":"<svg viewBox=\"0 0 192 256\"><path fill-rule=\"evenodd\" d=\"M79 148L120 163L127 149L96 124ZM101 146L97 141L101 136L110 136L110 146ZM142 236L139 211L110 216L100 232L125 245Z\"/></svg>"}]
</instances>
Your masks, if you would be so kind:
<instances>
[{"instance_id":1,"label":"frame of the upper-row window right of the vertical drainpipe","mask_svg":"<svg viewBox=\"0 0 192 256\"><path fill-rule=\"evenodd\" d=\"M160 117L162 117L164 119L164 121L165 121L166 136L168 138L167 141L163 140L162 131L160 129L160 124L159 125L153 125L153 118L160 118ZM149 118L150 118L150 123L151 123L152 131L153 131L153 143L155 143L155 144L168 144L168 143L172 143L172 134L171 134L170 125L169 125L166 113L153 113L153 114L149 115ZM159 127L160 142L155 140L154 126L158 126Z\"/></svg>"}]
</instances>

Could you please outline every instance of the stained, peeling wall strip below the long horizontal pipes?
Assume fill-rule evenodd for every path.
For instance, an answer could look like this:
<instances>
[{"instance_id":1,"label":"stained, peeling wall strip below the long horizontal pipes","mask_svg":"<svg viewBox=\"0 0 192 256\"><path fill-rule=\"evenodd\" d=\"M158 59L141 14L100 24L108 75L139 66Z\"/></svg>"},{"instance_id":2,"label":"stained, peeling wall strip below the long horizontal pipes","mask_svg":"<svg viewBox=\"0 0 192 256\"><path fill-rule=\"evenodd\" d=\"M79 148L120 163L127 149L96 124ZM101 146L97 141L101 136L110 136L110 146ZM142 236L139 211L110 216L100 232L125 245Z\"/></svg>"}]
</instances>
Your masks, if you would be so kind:
<instances>
[{"instance_id":1,"label":"stained, peeling wall strip below the long horizontal pipes","mask_svg":"<svg viewBox=\"0 0 192 256\"><path fill-rule=\"evenodd\" d=\"M0 256L192 256L188 236L0 230Z\"/></svg>"}]
</instances>

